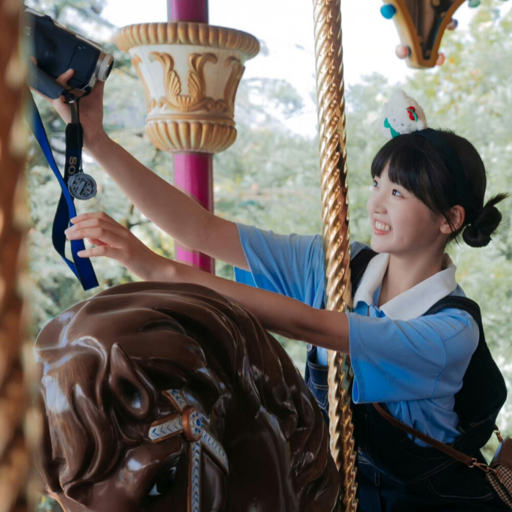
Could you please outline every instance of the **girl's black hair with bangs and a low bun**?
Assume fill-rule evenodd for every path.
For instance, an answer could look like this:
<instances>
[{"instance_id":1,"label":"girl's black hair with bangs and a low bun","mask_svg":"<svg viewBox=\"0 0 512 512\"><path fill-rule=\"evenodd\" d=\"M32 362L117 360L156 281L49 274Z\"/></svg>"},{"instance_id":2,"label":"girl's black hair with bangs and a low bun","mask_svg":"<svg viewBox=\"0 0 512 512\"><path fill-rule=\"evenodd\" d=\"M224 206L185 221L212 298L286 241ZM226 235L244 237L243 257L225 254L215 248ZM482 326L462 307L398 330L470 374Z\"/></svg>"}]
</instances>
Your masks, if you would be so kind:
<instances>
[{"instance_id":1,"label":"girl's black hair with bangs and a low bun","mask_svg":"<svg viewBox=\"0 0 512 512\"><path fill-rule=\"evenodd\" d=\"M389 165L390 181L409 190L434 214L444 216L453 229L449 242L462 232L466 244L483 247L501 222L501 212L495 205L508 194L498 194L484 205L485 166L477 150L471 142L451 131L436 132L452 146L460 160L467 184L464 197L457 196L446 156L431 140L415 132L394 137L380 148L372 162L372 177L380 177ZM466 214L459 229L454 229L450 215L455 205L462 206Z\"/></svg>"}]
</instances>

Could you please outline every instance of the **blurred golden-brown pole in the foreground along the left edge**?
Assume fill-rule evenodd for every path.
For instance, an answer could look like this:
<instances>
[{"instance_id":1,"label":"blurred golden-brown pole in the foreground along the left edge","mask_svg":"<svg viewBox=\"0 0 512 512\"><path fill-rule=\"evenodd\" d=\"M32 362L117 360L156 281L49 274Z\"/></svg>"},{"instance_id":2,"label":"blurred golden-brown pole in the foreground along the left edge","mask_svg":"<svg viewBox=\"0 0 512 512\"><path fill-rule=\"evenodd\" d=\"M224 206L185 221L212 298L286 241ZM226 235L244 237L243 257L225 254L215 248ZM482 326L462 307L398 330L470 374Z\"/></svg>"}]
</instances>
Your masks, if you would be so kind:
<instances>
[{"instance_id":1,"label":"blurred golden-brown pole in the foreground along the left edge","mask_svg":"<svg viewBox=\"0 0 512 512\"><path fill-rule=\"evenodd\" d=\"M26 137L22 130L25 68L20 62L23 3L0 0L0 512L27 509L29 455L22 423L25 406L20 344L26 318L18 292L26 206L20 185Z\"/></svg>"}]
</instances>

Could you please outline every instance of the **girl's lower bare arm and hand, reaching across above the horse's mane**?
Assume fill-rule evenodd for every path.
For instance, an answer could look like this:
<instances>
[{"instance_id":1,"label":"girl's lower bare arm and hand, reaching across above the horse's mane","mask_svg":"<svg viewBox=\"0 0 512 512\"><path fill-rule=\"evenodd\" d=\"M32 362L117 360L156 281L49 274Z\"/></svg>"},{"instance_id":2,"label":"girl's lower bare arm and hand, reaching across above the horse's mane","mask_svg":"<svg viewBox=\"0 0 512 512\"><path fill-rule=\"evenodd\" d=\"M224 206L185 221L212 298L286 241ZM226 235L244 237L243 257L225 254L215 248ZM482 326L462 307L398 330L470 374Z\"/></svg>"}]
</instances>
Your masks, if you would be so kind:
<instances>
[{"instance_id":1,"label":"girl's lower bare arm and hand, reaching across above the horse's mane","mask_svg":"<svg viewBox=\"0 0 512 512\"><path fill-rule=\"evenodd\" d=\"M84 226L87 221L77 219L74 227L67 230L69 239L87 238L95 245L78 252L80 257L112 258L145 281L194 283L212 288L250 309L272 332L321 347L348 351L345 313L317 309L282 293L235 283L163 258L106 214L91 215L101 215L103 227Z\"/></svg>"}]
</instances>

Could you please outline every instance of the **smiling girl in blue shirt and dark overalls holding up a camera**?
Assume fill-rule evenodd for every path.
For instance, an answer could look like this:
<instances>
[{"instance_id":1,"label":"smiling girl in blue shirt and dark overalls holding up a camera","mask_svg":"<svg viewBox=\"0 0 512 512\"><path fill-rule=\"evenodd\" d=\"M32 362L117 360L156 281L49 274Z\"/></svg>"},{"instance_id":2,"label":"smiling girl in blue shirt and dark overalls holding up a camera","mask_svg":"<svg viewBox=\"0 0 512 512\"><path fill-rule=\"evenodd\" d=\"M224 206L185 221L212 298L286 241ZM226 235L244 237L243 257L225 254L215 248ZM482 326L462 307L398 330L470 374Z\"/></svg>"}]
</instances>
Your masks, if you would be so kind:
<instances>
[{"instance_id":1,"label":"smiling girl in blue shirt and dark overalls holding up a camera","mask_svg":"<svg viewBox=\"0 0 512 512\"><path fill-rule=\"evenodd\" d=\"M60 81L71 76L69 71ZM455 397L463 378L465 390L476 385L466 370L475 350L486 346L478 307L471 301L471 307L461 306L456 268L444 253L460 233L471 246L487 245L501 220L495 204L505 195L484 204L485 169L475 148L431 129L397 134L381 148L368 200L373 251L351 245L353 309L340 313L323 309L319 235L283 236L210 214L105 134L102 95L99 82L81 100L86 149L148 219L182 245L232 264L238 282L162 258L102 212L72 220L68 239L95 245L79 255L113 258L143 280L215 289L250 309L268 330L307 342L306 379L324 412L325 349L350 354L360 510L500 510L502 502L483 473L404 434L369 407L380 402L394 418L483 460L479 449L506 391L490 355L479 357L480 371L494 379L496 399L474 396L470 419L491 402L492 410L485 413L483 434L464 431L471 423L465 421L468 408L459 417ZM62 100L52 103L68 120Z\"/></svg>"}]
</instances>

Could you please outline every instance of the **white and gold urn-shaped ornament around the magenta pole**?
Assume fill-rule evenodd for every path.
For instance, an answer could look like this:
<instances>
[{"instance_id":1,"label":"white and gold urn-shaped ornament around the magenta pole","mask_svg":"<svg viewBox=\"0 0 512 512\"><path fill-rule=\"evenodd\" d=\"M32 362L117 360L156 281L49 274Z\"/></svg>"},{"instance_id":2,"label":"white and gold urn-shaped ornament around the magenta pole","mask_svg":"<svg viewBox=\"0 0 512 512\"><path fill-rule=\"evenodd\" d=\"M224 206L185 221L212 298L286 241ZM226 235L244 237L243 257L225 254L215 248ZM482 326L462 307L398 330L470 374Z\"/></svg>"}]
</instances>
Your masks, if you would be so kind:
<instances>
[{"instance_id":1,"label":"white and gold urn-shaped ornament around the magenta pole","mask_svg":"<svg viewBox=\"0 0 512 512\"><path fill-rule=\"evenodd\" d=\"M146 133L163 151L219 153L237 137L234 100L258 39L202 23L130 25L116 38L144 86Z\"/></svg>"}]
</instances>

